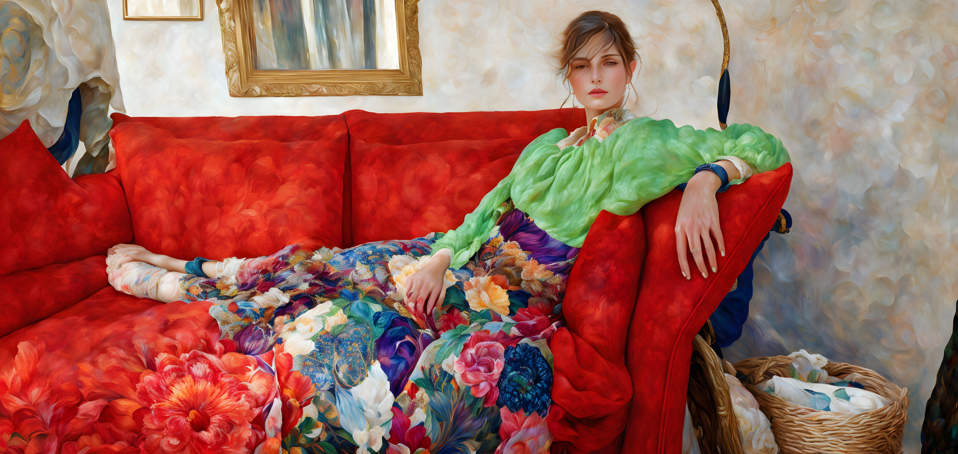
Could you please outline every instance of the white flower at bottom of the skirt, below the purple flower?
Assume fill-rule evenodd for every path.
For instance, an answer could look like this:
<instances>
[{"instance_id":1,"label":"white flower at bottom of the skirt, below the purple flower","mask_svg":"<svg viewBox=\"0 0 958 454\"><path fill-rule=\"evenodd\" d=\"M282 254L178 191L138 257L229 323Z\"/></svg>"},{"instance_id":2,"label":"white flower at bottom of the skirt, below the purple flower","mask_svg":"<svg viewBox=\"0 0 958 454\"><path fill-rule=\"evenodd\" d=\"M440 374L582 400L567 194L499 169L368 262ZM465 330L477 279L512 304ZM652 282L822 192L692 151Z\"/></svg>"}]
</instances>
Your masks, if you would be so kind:
<instances>
[{"instance_id":1,"label":"white flower at bottom of the skirt, below the purple flower","mask_svg":"<svg viewBox=\"0 0 958 454\"><path fill-rule=\"evenodd\" d=\"M359 446L357 453L364 453L367 447L374 452L382 448L382 439L389 438L389 429L392 427L393 393L389 391L389 377L382 372L379 361L373 362L369 375L350 390L350 394L359 405L365 424L359 427L350 427L353 441ZM352 425L352 424L348 424ZM347 427L344 425L344 429ZM348 430L349 430L348 429Z\"/></svg>"}]
</instances>

